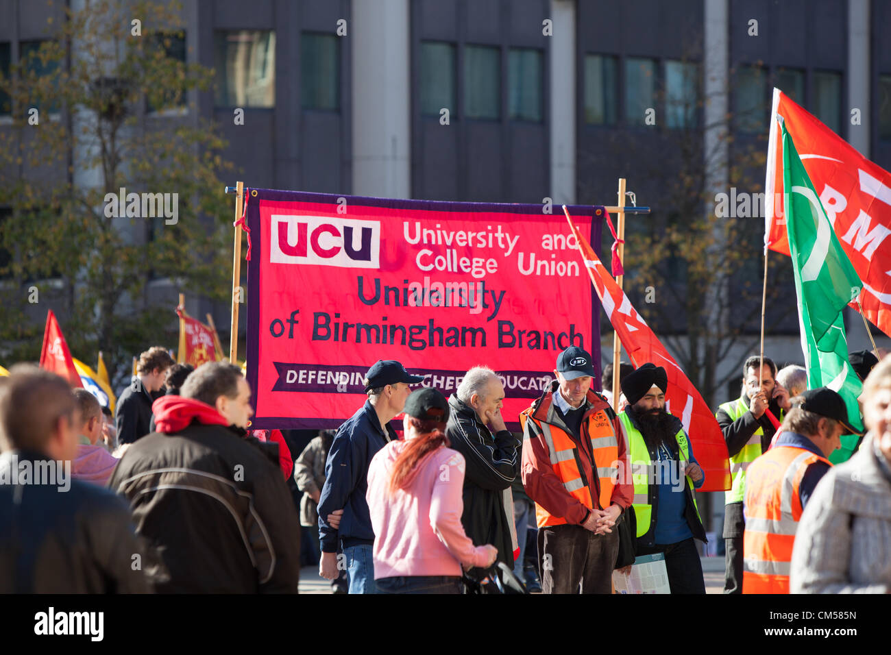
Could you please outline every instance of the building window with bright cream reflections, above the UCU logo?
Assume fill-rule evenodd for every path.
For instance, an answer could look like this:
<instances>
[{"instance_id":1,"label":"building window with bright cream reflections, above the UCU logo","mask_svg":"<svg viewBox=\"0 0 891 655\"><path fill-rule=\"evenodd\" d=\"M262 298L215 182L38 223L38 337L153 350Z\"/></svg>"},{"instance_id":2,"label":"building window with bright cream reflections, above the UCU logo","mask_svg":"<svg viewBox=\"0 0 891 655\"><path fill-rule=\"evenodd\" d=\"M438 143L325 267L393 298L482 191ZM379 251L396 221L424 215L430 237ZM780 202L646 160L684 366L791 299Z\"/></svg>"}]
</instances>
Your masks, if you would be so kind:
<instances>
[{"instance_id":1,"label":"building window with bright cream reflections, above the UCU logo","mask_svg":"<svg viewBox=\"0 0 891 655\"><path fill-rule=\"evenodd\" d=\"M275 106L275 32L217 32L217 107Z\"/></svg>"}]
</instances>

